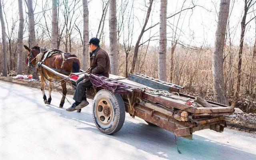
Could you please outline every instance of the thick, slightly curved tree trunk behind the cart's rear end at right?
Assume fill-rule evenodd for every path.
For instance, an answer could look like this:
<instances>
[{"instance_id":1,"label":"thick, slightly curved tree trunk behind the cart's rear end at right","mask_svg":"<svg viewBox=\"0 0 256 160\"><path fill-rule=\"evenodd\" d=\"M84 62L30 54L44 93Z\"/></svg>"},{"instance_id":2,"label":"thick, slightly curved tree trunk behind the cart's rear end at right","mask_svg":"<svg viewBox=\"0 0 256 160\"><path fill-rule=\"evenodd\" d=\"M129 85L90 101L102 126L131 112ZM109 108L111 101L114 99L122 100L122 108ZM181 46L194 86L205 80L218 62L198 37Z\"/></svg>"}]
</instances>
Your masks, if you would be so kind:
<instances>
[{"instance_id":1,"label":"thick, slightly curved tree trunk behind the cart's rear end at right","mask_svg":"<svg viewBox=\"0 0 256 160\"><path fill-rule=\"evenodd\" d=\"M212 76L214 82L214 94L217 102L228 105L226 96L226 88L223 76L223 50L225 42L225 33L228 20L230 0L220 1L220 11L218 17L218 26L216 30L216 39L214 44L213 60L212 60Z\"/></svg>"}]
</instances>

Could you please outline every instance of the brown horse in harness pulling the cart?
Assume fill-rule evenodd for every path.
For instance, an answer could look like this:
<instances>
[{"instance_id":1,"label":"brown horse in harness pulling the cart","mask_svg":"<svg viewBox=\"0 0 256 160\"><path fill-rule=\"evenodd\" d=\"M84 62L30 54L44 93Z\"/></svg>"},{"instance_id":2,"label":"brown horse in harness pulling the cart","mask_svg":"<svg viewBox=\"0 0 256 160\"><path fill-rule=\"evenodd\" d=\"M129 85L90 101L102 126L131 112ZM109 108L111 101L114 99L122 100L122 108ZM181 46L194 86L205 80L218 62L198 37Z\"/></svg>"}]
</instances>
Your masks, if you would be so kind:
<instances>
[{"instance_id":1,"label":"brown horse in harness pulling the cart","mask_svg":"<svg viewBox=\"0 0 256 160\"><path fill-rule=\"evenodd\" d=\"M27 60L26 63L28 64L28 67L36 67L36 56L40 53L40 47L34 46L31 49L28 48L27 46L24 46L24 48L28 51L27 54ZM47 53L43 52L44 54ZM46 58L44 60L44 65L57 69L59 71L63 71L62 74L69 75L70 72L76 73L80 72L80 61L76 57L76 55L72 53L63 53L63 52L58 52L56 54L53 54L52 56ZM40 67L38 68L37 72L41 76L41 90L44 98L44 103L45 104L50 104L52 97L51 97L51 92L52 92L52 82L54 80L61 80L61 87L62 87L62 99L60 101L60 108L63 107L64 102L65 102L65 96L67 94L67 88L66 88L66 80L63 80L61 77L56 76L52 72L49 72L48 70ZM48 100L46 98L45 92L44 92L44 86L46 84L46 80L49 81L48 85L48 90L49 90L49 96Z\"/></svg>"}]
</instances>

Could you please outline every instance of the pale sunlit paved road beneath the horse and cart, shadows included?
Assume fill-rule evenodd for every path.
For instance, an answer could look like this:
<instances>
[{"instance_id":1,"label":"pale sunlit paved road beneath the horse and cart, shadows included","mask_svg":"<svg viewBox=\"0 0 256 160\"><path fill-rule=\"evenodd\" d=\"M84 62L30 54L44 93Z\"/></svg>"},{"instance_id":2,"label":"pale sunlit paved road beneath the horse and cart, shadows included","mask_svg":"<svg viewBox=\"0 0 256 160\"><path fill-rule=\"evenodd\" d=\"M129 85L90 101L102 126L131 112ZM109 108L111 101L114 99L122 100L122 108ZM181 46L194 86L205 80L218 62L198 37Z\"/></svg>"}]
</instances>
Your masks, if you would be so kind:
<instances>
[{"instance_id":1,"label":"pale sunlit paved road beneath the horse and cart, shadows included","mask_svg":"<svg viewBox=\"0 0 256 160\"><path fill-rule=\"evenodd\" d=\"M99 132L92 108L81 113L43 103L40 89L0 81L0 160L256 160L256 135L225 129L196 132L193 140L178 138L126 114L114 135ZM67 96L73 102L72 96ZM92 100L89 101L90 103Z\"/></svg>"}]
</instances>

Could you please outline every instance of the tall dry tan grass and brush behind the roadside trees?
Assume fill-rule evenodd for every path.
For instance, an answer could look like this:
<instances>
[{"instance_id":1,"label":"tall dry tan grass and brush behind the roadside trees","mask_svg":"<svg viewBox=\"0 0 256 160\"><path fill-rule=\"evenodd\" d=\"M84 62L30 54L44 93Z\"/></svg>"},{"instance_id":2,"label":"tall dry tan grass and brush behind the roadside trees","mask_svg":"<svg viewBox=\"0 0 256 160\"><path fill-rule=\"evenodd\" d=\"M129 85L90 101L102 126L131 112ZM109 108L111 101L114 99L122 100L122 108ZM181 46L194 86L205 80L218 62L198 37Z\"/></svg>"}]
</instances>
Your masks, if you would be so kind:
<instances>
[{"instance_id":1,"label":"tall dry tan grass and brush behind the roadside trees","mask_svg":"<svg viewBox=\"0 0 256 160\"><path fill-rule=\"evenodd\" d=\"M24 43L25 44L25 43ZM50 46L49 42L38 42L38 46ZM103 46L105 50L108 50L108 46ZM65 50L65 46L60 47L61 50ZM201 50L188 50L186 48L177 47L174 52L174 70L171 75L171 58L170 58L170 49L167 50L167 81L174 82L174 73L178 69L178 84L184 86L185 89L183 92L192 95L199 95L208 100L215 100L213 93L213 82L212 82L212 48L203 48ZM225 50L224 55L228 54L228 49ZM243 58L242 58L242 74L241 74L241 86L240 94L238 98L234 96L236 92L236 83L237 83L237 47L233 47L230 52L234 56L232 62L232 71L229 71L229 55L224 59L224 79L226 82L226 88L228 84L232 84L231 91L228 93L228 98L230 104L234 104L236 107L241 108L245 112L256 112L256 60L253 58L253 48L248 46L244 47ZM80 42L72 44L72 52L78 55L78 58L82 60L82 45ZM26 54L24 50L24 62L26 59ZM133 51L128 56L128 71L130 71L132 63ZM0 56L2 59L2 54ZM17 56L16 56L17 58ZM119 75L125 76L125 52L122 46L119 46ZM8 59L10 56L8 54ZM16 62L16 60L15 60ZM9 63L9 62L8 62ZM0 63L2 68L2 62ZM140 48L138 54L138 60L135 68L135 72L140 72L154 78L158 78L158 47L148 47L146 46ZM228 76L228 73L231 73ZM29 70L24 63L24 73L28 74ZM176 74L176 75L177 75Z\"/></svg>"}]
</instances>

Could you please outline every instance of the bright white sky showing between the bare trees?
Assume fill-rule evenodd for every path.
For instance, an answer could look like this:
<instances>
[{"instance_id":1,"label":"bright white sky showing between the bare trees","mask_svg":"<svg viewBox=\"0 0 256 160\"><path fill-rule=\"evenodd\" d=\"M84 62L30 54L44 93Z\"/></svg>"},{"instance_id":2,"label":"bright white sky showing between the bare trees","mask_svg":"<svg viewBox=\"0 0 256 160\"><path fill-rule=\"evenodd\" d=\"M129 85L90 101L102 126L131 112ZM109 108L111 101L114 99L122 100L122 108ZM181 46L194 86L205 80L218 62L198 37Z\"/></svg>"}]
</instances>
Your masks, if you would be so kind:
<instances>
[{"instance_id":1,"label":"bright white sky showing between the bare trees","mask_svg":"<svg viewBox=\"0 0 256 160\"><path fill-rule=\"evenodd\" d=\"M78 16L76 20L76 25L82 30L82 0L77 0L78 5L76 9L76 14ZM123 4L122 4L123 1ZM120 6L125 5L125 0L117 0L117 16L120 13ZM145 1L144 0L134 0L134 6L131 6L132 0L129 0L127 10L133 10L134 12L134 35L133 35L133 44L135 45L140 30L142 28L144 18L146 16ZM213 46L215 40L215 32L218 21L218 10L219 10L219 2L220 0L168 0L167 7L167 16L170 16L182 8L188 8L193 6L192 2L196 6L193 10L183 11L182 14L178 14L173 18L168 19L167 22L167 37L168 37L168 47L171 46L171 42L174 37L174 31L176 30L176 38L184 44L190 44L191 46ZM6 12L6 20L9 22L9 30L10 30L10 22L18 20L18 2L16 0L4 0L4 10ZM34 0L35 6L35 28L40 32L40 27L42 25L46 25L42 18L42 6L45 3L48 3L49 6L46 9L50 9L52 5L51 0ZM69 4L72 5L74 0L69 0ZM243 14L243 4L244 2L241 0L230 0L230 32L231 32L231 40L234 45L239 44L240 39L240 21L242 19ZM146 0L146 5L148 5L148 0ZM63 7L63 5L61 6ZM102 0L89 0L88 2L89 8L89 36L96 36L96 32L98 30L98 25L100 22L100 18L102 15ZM254 8L251 8L252 11ZM25 5L23 5L24 16L25 16ZM160 10L160 0L154 0L152 6L152 13L150 16L150 20L148 20L148 25L146 28L159 22L159 10ZM47 25L51 26L51 10L45 11L47 18ZM251 12L248 14L247 20L250 20L254 17L254 13ZM63 18L60 15L60 22L63 22ZM127 33L127 25L125 25L124 34ZM130 24L131 25L131 24ZM176 27L177 26L177 27ZM16 33L18 33L18 22L16 22ZM7 27L6 27L7 30ZM144 36L141 42L144 42L148 39L150 35L158 35L159 25L152 28L152 30L144 33ZM104 26L105 31L105 43L108 44L109 33L108 33L108 12L106 15L106 21ZM16 34L15 33L15 34ZM27 33L24 34L26 38ZM80 36L78 32L74 31L72 34L73 40L80 42ZM158 46L158 38L152 42L150 45ZM255 39L255 21L252 20L248 26L246 27L246 36L245 43L248 45L253 45ZM122 42L122 36L121 40Z\"/></svg>"}]
</instances>

